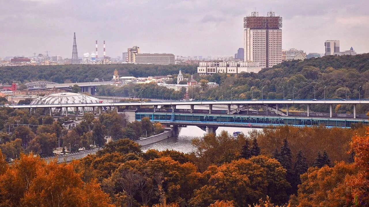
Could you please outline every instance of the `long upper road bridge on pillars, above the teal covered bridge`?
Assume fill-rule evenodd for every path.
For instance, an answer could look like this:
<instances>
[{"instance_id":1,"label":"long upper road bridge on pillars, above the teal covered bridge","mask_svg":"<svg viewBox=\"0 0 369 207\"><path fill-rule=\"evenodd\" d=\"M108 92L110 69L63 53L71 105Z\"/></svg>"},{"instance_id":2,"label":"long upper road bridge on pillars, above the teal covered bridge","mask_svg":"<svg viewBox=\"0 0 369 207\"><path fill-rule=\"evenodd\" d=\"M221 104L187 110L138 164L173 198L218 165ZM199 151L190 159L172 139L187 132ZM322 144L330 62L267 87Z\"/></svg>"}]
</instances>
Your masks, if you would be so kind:
<instances>
[{"instance_id":1,"label":"long upper road bridge on pillars, above the teal covered bridge","mask_svg":"<svg viewBox=\"0 0 369 207\"><path fill-rule=\"evenodd\" d=\"M92 82L93 83L93 82ZM99 83L99 82L95 82ZM86 107L93 108L93 112L95 113L95 108L98 110L99 113L102 113L104 110L111 110L117 109L120 107L129 107L133 106L137 109L142 107L151 107L153 108L154 112L161 110L162 108L171 108L172 112L175 112L176 107L180 105L187 105L189 106L190 113L194 112L195 105L202 105L208 107L208 113L213 113L213 105L224 105L227 106L227 114L239 114L242 111L247 110L250 108L263 108L264 110L269 110L277 115L280 116L291 116L291 112L289 111L289 106L291 105L305 105L306 106L306 116L314 116L314 113L310 112L310 106L313 104L324 104L329 105L329 117L336 116L333 113L333 105L336 104L349 104L353 107L353 114L352 118L362 118L358 117L356 113L356 105L360 104L369 104L369 99L263 99L263 100L196 100L196 101L147 101L147 102L111 102L111 103L63 103L63 104L45 104L45 105L6 105L11 108L18 108L18 109L29 109L32 113L32 110L35 112L35 109L42 108L45 109L45 114L47 113L47 109L49 109L49 114L51 114L51 108L74 108L73 110L74 115L80 115L85 112ZM4 105L3 105L4 106ZM235 108L231 110L231 106ZM285 111L280 110L280 108L286 108ZM68 116L68 110L64 110L66 112L66 116ZM304 115L305 116L305 115ZM315 113L316 116L316 113ZM318 115L319 116L319 115ZM345 116L346 117L346 116Z\"/></svg>"}]
</instances>

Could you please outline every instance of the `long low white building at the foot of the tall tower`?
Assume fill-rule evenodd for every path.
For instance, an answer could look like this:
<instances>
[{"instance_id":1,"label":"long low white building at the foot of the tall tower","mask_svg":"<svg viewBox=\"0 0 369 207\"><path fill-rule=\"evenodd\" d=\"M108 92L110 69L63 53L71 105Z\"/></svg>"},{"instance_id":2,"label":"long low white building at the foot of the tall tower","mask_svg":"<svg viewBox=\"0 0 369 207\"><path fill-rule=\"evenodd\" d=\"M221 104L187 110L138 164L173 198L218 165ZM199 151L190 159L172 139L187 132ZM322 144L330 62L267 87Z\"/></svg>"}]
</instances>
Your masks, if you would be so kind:
<instances>
[{"instance_id":1,"label":"long low white building at the foot of the tall tower","mask_svg":"<svg viewBox=\"0 0 369 207\"><path fill-rule=\"evenodd\" d=\"M240 62L240 61L225 61L225 62L200 62L197 67L197 73L200 76L212 75L214 73L258 73L261 70L259 62Z\"/></svg>"}]
</instances>

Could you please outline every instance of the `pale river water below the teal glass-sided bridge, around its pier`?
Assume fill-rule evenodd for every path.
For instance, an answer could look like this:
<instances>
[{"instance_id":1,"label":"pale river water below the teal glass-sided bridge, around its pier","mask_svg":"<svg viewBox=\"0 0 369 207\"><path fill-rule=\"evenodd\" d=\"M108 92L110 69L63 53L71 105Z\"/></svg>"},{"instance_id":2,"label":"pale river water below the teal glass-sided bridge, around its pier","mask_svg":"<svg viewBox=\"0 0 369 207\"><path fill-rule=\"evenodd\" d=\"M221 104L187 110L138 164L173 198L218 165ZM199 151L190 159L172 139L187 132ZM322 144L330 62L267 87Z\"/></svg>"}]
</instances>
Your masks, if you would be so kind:
<instances>
[{"instance_id":1,"label":"pale river water below the teal glass-sided bridge, around its pier","mask_svg":"<svg viewBox=\"0 0 369 207\"><path fill-rule=\"evenodd\" d=\"M216 131L219 134L222 130L228 131L228 133L233 134L234 131L241 131L244 134L248 134L249 131L253 130L250 128L238 128L238 127L219 127ZM260 129L256 129L260 130ZM180 130L178 137L170 137L168 139L159 141L157 143L149 144L141 147L142 151L147 151L149 149L156 149L159 151L163 150L176 150L180 152L192 152L194 150L191 144L192 139L196 137L204 136L205 131L201 130L197 126L187 126Z\"/></svg>"}]
</instances>

